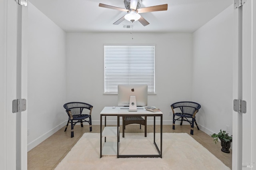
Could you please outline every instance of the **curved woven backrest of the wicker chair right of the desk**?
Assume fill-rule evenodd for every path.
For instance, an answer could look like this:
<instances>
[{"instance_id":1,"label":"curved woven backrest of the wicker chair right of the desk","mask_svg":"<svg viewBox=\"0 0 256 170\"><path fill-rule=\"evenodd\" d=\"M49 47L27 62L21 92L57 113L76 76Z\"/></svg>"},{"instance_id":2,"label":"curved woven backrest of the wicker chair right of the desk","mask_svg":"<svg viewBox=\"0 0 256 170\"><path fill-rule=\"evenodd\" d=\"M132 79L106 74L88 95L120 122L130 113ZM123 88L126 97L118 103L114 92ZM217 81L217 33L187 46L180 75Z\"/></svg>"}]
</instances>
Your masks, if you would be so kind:
<instances>
[{"instance_id":1,"label":"curved woven backrest of the wicker chair right of the desk","mask_svg":"<svg viewBox=\"0 0 256 170\"><path fill-rule=\"evenodd\" d=\"M171 105L172 107L172 111L174 112L173 109L175 108L180 108L180 111L182 113L186 113L186 114L190 114L190 115L194 115L198 112L198 110L201 108L201 105L196 103L196 102L192 102L192 101L180 101L180 102L176 102L173 103Z\"/></svg>"}]
</instances>

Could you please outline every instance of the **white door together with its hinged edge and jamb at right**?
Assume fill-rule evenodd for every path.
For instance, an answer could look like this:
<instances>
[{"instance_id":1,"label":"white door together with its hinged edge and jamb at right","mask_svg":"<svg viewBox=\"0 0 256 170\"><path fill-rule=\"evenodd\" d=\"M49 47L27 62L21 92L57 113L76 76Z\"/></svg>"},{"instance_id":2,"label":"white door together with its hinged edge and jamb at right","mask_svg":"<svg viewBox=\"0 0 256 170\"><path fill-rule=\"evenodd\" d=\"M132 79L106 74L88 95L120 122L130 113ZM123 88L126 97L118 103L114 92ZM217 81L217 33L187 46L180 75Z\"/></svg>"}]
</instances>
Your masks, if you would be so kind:
<instances>
[{"instance_id":1,"label":"white door together with its hinged edge and jamb at right","mask_svg":"<svg viewBox=\"0 0 256 170\"><path fill-rule=\"evenodd\" d=\"M244 0L242 1L244 2ZM234 99L246 101L246 113L233 112L232 169L256 169L256 3L234 10ZM240 12L240 14L239 14ZM240 19L238 19L240 18ZM238 20L242 20L239 28ZM241 40L238 30L242 29ZM241 43L242 42L242 43ZM239 50L238 44L242 49ZM242 58L239 59L239 51ZM240 65L240 66L239 66ZM240 71L239 71L240 68ZM239 78L240 77L240 78Z\"/></svg>"}]
</instances>

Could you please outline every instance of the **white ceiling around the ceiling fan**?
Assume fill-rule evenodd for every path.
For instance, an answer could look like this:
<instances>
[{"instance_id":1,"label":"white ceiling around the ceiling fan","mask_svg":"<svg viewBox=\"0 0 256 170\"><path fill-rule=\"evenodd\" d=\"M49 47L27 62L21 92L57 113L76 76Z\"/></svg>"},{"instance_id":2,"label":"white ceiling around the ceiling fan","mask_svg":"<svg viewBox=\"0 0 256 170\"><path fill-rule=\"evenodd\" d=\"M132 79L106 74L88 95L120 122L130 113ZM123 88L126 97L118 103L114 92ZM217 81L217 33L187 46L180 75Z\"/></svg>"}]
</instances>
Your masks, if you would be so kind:
<instances>
[{"instance_id":1,"label":"white ceiling around the ceiling fan","mask_svg":"<svg viewBox=\"0 0 256 170\"><path fill-rule=\"evenodd\" d=\"M167 11L142 13L150 24L124 21L113 25L126 12L99 7L99 3L124 7L124 0L29 0L36 8L66 32L127 32L124 25L134 25L133 32L192 33L206 24L233 0L142 0L140 8L168 4ZM28 4L29 8L29 4Z\"/></svg>"}]
</instances>

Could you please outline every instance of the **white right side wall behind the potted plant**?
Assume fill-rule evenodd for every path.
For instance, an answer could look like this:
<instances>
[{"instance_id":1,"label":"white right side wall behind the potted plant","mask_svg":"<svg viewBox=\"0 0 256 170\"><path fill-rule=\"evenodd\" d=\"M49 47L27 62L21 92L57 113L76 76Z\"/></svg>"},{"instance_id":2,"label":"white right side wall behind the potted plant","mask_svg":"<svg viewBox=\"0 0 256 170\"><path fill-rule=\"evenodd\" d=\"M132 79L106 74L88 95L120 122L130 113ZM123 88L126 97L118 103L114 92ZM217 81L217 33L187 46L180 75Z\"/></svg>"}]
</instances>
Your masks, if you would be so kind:
<instances>
[{"instance_id":1,"label":"white right side wall behind the potted plant","mask_svg":"<svg viewBox=\"0 0 256 170\"><path fill-rule=\"evenodd\" d=\"M202 108L196 121L208 134L232 134L232 5L193 34L193 100Z\"/></svg>"}]
</instances>

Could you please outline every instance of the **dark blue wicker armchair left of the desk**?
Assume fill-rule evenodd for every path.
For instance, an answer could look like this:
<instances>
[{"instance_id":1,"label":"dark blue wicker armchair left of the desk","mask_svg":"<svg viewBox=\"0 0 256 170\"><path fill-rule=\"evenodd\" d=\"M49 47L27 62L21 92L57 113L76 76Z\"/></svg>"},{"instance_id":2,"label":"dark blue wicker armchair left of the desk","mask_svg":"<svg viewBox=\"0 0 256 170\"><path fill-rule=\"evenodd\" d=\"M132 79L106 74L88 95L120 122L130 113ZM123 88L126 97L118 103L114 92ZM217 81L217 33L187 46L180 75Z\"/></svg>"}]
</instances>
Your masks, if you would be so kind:
<instances>
[{"instance_id":1,"label":"dark blue wicker armchair left of the desk","mask_svg":"<svg viewBox=\"0 0 256 170\"><path fill-rule=\"evenodd\" d=\"M80 122L81 127L84 127L83 122L87 122L90 125L90 131L92 131L92 105L82 102L69 102L64 104L63 107L66 109L66 113L68 114L68 123L66 125L64 132L66 132L68 124L71 123L71 138L74 137L74 126L76 125L76 123ZM88 109L90 113L83 114L84 109Z\"/></svg>"}]
</instances>

